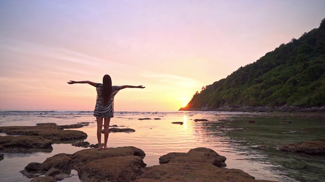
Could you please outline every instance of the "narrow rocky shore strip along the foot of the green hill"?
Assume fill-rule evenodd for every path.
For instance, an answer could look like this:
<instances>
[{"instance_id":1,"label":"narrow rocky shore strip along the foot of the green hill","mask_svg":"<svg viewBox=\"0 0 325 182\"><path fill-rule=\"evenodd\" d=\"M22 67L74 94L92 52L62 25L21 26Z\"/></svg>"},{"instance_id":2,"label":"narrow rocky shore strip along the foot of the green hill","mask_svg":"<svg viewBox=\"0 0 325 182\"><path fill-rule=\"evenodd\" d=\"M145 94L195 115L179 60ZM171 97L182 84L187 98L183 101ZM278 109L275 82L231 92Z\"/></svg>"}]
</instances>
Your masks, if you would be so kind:
<instances>
[{"instance_id":1,"label":"narrow rocky shore strip along the foot of the green hill","mask_svg":"<svg viewBox=\"0 0 325 182\"><path fill-rule=\"evenodd\" d=\"M325 106L323 107L299 107L299 106L223 106L219 108L201 107L201 108L180 108L179 111L228 111L228 112L297 112L297 113L325 113Z\"/></svg>"}]
</instances>

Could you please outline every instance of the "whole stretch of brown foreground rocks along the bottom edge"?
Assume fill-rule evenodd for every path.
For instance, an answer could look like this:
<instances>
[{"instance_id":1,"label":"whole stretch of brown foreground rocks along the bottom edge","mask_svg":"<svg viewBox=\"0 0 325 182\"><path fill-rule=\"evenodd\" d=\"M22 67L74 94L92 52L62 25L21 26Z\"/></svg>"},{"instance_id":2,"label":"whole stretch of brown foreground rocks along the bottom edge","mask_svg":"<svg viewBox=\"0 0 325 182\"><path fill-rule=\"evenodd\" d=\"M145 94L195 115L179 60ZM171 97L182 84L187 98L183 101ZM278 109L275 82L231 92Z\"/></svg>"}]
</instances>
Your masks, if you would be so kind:
<instances>
[{"instance_id":1,"label":"whole stretch of brown foreground rocks along the bottom edge","mask_svg":"<svg viewBox=\"0 0 325 182\"><path fill-rule=\"evenodd\" d=\"M146 167L144 157L144 151L132 146L84 149L54 155L43 163L31 162L21 173L33 178L31 181L61 180L70 177L73 169L81 181L270 181L256 180L239 169L224 168L226 157L208 148L169 153L159 158L160 165L150 167Z\"/></svg>"}]
</instances>

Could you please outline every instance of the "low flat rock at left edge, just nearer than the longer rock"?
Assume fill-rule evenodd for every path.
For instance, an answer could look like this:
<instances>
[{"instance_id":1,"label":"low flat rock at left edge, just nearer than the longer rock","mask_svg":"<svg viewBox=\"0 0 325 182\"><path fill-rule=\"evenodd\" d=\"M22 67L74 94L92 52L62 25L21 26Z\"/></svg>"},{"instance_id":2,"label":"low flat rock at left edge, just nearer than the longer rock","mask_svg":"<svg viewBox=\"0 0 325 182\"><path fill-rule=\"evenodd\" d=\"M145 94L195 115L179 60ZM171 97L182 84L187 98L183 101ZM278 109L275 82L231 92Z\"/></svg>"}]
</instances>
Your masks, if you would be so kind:
<instances>
[{"instance_id":1,"label":"low flat rock at left edge, just nearer than the longer rock","mask_svg":"<svg viewBox=\"0 0 325 182\"><path fill-rule=\"evenodd\" d=\"M24 152L26 149L52 149L52 140L42 136L0 136L1 151Z\"/></svg>"}]
</instances>

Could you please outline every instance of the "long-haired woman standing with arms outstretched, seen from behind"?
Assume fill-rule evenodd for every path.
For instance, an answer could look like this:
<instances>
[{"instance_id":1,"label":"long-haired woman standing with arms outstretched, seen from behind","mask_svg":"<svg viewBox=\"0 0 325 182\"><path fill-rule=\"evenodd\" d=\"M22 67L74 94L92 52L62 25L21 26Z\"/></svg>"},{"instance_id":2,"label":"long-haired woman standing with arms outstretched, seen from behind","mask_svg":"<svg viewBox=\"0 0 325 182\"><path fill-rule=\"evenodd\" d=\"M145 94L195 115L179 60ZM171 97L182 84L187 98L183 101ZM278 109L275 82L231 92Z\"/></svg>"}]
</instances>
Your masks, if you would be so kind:
<instances>
[{"instance_id":1,"label":"long-haired woman standing with arms outstretched, seen from behind","mask_svg":"<svg viewBox=\"0 0 325 182\"><path fill-rule=\"evenodd\" d=\"M109 134L109 124L111 118L114 117L114 96L120 89L124 88L145 88L142 85L132 86L132 85L123 85L123 86L112 86L112 79L110 75L104 75L103 84L94 83L91 81L72 81L68 82L69 84L74 83L88 83L96 87L97 99L96 106L93 115L96 117L97 121L97 140L98 140L98 150L102 150L102 127L103 127L103 118L104 118L104 149L107 149L107 141Z\"/></svg>"}]
</instances>

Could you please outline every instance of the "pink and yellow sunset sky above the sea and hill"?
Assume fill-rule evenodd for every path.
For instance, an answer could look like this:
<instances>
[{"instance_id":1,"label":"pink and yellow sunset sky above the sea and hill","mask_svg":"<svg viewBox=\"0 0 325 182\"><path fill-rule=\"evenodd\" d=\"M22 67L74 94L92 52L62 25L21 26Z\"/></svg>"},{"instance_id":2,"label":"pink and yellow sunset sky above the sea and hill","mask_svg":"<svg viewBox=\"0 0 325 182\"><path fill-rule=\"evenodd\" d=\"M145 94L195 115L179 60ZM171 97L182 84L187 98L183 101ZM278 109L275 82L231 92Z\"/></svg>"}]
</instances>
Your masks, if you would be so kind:
<instances>
[{"instance_id":1,"label":"pink and yellow sunset sky above the sea and hill","mask_svg":"<svg viewBox=\"0 0 325 182\"><path fill-rule=\"evenodd\" d=\"M175 111L202 86L318 28L323 0L0 0L0 109Z\"/></svg>"}]
</instances>

